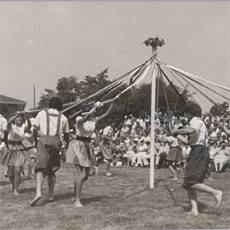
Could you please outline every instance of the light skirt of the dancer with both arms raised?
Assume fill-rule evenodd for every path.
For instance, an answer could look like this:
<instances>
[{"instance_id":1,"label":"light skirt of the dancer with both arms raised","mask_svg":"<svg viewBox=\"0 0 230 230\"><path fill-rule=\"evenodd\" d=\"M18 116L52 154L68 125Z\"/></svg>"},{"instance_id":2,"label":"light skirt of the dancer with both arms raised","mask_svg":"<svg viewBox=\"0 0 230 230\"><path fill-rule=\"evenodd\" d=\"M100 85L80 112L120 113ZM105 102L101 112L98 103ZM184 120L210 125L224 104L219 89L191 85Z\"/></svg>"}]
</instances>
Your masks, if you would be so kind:
<instances>
[{"instance_id":1,"label":"light skirt of the dancer with both arms raised","mask_svg":"<svg viewBox=\"0 0 230 230\"><path fill-rule=\"evenodd\" d=\"M66 163L89 168L95 165L91 143L81 140L71 141L66 152Z\"/></svg>"}]
</instances>

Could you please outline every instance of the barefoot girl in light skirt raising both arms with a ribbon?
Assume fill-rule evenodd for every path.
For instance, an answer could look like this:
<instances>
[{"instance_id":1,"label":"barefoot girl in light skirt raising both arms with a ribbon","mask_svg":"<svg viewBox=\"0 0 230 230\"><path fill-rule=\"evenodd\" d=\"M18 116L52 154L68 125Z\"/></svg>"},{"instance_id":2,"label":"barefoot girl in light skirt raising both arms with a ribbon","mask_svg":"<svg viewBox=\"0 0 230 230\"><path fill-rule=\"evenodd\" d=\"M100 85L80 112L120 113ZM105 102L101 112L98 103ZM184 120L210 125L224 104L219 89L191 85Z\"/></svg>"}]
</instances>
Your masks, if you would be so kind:
<instances>
[{"instance_id":1,"label":"barefoot girl in light skirt raising both arms with a ribbon","mask_svg":"<svg viewBox=\"0 0 230 230\"><path fill-rule=\"evenodd\" d=\"M90 175L94 174L91 170L94 165L91 146L92 134L95 132L97 121L109 114L113 104L104 114L97 117L96 112L102 106L101 102L96 102L92 107L89 104L82 107L83 113L76 118L76 139L70 142L66 152L66 162L73 163L77 172L74 182L76 196L74 205L76 208L82 207L80 198L83 183Z\"/></svg>"}]
</instances>

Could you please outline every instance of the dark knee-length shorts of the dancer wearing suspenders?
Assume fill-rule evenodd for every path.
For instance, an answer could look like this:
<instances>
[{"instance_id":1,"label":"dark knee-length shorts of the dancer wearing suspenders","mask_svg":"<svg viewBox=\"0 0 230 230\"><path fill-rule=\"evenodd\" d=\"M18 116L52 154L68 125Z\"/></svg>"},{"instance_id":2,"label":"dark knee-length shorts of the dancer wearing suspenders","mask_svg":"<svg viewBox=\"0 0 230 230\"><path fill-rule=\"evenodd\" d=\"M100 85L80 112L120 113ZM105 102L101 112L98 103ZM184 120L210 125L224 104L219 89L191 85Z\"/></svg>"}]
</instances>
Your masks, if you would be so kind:
<instances>
[{"instance_id":1,"label":"dark knee-length shorts of the dancer wearing suspenders","mask_svg":"<svg viewBox=\"0 0 230 230\"><path fill-rule=\"evenodd\" d=\"M61 141L57 136L42 136L37 144L35 173L53 175L60 168Z\"/></svg>"}]
</instances>

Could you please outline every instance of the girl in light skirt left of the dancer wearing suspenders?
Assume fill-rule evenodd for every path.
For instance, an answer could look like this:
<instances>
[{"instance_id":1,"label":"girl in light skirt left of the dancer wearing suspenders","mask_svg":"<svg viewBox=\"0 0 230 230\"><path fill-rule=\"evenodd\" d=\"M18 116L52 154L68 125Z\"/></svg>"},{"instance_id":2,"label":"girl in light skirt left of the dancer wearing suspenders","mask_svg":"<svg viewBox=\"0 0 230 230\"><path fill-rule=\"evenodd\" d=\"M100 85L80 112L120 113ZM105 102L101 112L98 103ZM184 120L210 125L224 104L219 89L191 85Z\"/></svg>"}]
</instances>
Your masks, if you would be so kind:
<instances>
[{"instance_id":1,"label":"girl in light skirt left of the dancer wearing suspenders","mask_svg":"<svg viewBox=\"0 0 230 230\"><path fill-rule=\"evenodd\" d=\"M8 150L7 160L9 179L12 183L14 195L19 195L19 185L21 182L21 172L26 163L30 163L28 146L25 147L25 133L31 128L30 120L23 114L18 114L9 120L8 129ZM31 146L33 147L33 146Z\"/></svg>"}]
</instances>

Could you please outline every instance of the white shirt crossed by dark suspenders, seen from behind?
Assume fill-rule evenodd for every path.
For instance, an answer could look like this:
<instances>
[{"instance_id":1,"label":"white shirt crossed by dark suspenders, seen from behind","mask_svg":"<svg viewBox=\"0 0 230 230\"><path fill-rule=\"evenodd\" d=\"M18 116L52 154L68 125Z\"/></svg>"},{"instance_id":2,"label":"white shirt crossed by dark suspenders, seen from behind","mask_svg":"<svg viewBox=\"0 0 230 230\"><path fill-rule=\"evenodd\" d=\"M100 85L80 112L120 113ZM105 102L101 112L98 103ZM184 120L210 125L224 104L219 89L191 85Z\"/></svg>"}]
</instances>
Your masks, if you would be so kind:
<instances>
[{"instance_id":1,"label":"white shirt crossed by dark suspenders, seen from behind","mask_svg":"<svg viewBox=\"0 0 230 230\"><path fill-rule=\"evenodd\" d=\"M59 111L56 109L48 109L49 115L49 135L55 136L57 132L57 122ZM52 116L54 115L54 116ZM37 126L40 130L42 136L47 135L47 116L46 111L42 110L38 113L34 119L34 125ZM60 128L58 134L68 133L69 132L69 123L65 115L61 115L60 119Z\"/></svg>"}]
</instances>

